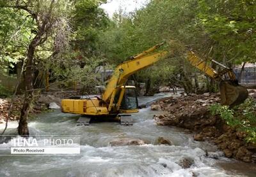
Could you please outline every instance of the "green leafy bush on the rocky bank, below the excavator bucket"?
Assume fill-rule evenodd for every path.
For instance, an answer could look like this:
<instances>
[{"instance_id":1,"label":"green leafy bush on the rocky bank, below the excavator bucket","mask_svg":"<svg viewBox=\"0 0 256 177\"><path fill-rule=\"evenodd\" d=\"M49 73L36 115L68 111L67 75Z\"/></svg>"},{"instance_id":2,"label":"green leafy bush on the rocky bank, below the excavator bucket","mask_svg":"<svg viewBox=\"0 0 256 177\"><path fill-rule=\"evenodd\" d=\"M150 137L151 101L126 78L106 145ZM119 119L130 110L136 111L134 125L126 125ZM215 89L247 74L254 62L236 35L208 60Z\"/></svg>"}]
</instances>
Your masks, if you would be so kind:
<instances>
[{"instance_id":1,"label":"green leafy bush on the rocky bank, below the excavator bucket","mask_svg":"<svg viewBox=\"0 0 256 177\"><path fill-rule=\"evenodd\" d=\"M246 141L256 143L256 102L253 99L248 99L234 110L220 104L213 104L209 110L212 115L220 115L231 127L246 132Z\"/></svg>"}]
</instances>

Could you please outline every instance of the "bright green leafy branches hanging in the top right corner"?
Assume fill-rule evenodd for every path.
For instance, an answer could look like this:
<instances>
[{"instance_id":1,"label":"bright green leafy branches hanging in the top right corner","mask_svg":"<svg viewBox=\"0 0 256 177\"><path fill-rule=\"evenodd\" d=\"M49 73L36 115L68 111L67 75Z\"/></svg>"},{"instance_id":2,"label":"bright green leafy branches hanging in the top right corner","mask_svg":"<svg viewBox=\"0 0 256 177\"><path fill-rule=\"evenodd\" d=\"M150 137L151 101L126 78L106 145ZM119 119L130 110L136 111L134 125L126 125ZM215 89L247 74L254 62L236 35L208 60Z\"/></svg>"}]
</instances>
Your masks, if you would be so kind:
<instances>
[{"instance_id":1,"label":"bright green leafy branches hanging in the top right corner","mask_svg":"<svg viewBox=\"0 0 256 177\"><path fill-rule=\"evenodd\" d=\"M217 55L238 64L255 62L256 1L200 0L198 4L197 17L205 32L216 41Z\"/></svg>"}]
</instances>

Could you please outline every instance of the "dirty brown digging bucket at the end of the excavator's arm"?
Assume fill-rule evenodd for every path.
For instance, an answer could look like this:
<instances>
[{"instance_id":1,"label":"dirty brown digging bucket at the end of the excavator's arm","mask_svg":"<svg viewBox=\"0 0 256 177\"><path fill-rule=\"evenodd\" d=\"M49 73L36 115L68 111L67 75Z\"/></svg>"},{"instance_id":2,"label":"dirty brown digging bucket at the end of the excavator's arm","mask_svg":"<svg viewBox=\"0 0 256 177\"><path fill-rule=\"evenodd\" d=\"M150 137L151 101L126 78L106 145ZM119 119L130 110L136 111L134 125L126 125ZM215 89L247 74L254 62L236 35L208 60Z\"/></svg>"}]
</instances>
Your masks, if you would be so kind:
<instances>
[{"instance_id":1,"label":"dirty brown digging bucket at the end of the excavator's arm","mask_svg":"<svg viewBox=\"0 0 256 177\"><path fill-rule=\"evenodd\" d=\"M248 97L248 90L239 85L237 81L220 81L220 101L222 105L233 108L244 102Z\"/></svg>"}]
</instances>

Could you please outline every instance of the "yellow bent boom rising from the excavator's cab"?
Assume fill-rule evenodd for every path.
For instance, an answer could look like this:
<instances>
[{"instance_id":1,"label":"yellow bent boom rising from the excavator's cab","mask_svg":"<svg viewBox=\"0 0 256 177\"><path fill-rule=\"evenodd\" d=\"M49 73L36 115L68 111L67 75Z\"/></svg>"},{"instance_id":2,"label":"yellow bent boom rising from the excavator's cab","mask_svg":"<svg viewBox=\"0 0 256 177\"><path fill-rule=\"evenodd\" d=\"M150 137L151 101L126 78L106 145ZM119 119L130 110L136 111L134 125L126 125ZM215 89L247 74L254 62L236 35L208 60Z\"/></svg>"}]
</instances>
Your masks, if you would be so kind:
<instances>
[{"instance_id":1,"label":"yellow bent boom rising from the excavator's cab","mask_svg":"<svg viewBox=\"0 0 256 177\"><path fill-rule=\"evenodd\" d=\"M132 56L131 60L127 60L122 64L119 64L116 67L113 76L110 78L106 90L102 94L102 100L106 103L110 103L111 105L113 103L113 99L115 98L117 90L125 85L125 82L129 78L129 76L136 73L137 71L140 71L141 69L144 69L145 67L154 64L161 57L164 57L164 55L166 55L168 52L163 51L148 54L159 48L159 46L161 45L163 45L163 43L155 45L152 48L149 48L148 50L138 55Z\"/></svg>"}]
</instances>

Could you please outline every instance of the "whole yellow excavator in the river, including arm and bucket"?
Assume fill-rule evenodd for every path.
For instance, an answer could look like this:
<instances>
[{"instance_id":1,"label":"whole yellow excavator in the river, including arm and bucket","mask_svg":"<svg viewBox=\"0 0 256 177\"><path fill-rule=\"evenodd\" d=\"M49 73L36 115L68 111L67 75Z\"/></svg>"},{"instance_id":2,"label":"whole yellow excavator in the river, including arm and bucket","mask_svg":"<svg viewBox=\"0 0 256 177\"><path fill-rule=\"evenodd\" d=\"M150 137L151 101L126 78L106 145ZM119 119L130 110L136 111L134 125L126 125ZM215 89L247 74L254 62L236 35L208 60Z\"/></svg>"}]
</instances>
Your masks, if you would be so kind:
<instances>
[{"instance_id":1,"label":"whole yellow excavator in the river, including arm and bucket","mask_svg":"<svg viewBox=\"0 0 256 177\"><path fill-rule=\"evenodd\" d=\"M126 85L127 80L131 74L151 66L159 59L166 56L168 53L166 51L151 53L161 45L163 45L163 43L155 45L138 55L134 55L130 57L130 60L119 64L101 97L83 96L75 99L63 99L61 101L61 111L63 113L82 115L82 117L77 120L77 125L88 125L91 118L106 119L106 117L117 118L122 125L132 125L132 118L128 114L139 111L138 99L135 87ZM188 53L188 60L193 66L197 67L211 78L220 80L222 104L234 106L243 103L248 97L246 88L238 85L236 76L228 67L223 66L225 69L221 73L218 73L193 52ZM216 63L220 64L218 62ZM223 80L224 76L228 77L228 80Z\"/></svg>"}]
</instances>

